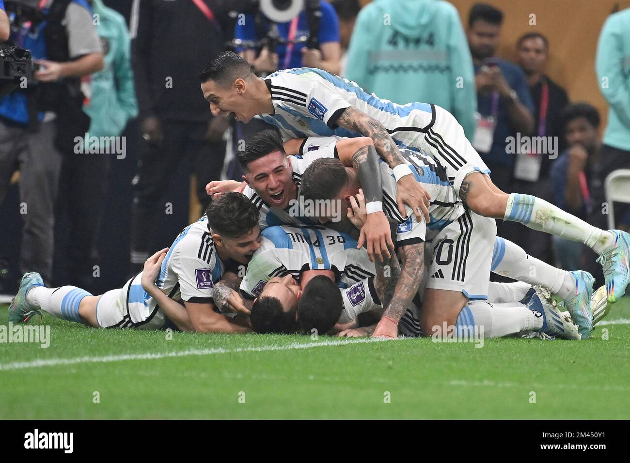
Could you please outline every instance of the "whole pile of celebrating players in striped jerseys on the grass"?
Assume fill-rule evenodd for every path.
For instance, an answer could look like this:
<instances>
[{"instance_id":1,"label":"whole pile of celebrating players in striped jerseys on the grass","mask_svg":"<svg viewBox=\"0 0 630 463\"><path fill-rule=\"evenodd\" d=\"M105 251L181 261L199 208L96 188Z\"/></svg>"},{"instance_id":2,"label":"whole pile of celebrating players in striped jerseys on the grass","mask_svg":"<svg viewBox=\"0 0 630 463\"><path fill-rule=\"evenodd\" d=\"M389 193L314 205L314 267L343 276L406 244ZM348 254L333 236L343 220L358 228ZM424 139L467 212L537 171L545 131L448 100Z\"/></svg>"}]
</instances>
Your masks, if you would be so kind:
<instances>
[{"instance_id":1,"label":"whole pile of celebrating players in striped jerseys on the grass","mask_svg":"<svg viewBox=\"0 0 630 463\"><path fill-rule=\"evenodd\" d=\"M47 288L26 273L11 321L45 311L95 328L585 340L626 291L626 232L496 188L438 106L380 100L319 69L260 79L231 52L200 81L215 116L278 129L246 140L243 182L210 183L203 217L120 289ZM587 244L605 287L593 294L587 272L497 237L495 219Z\"/></svg>"}]
</instances>

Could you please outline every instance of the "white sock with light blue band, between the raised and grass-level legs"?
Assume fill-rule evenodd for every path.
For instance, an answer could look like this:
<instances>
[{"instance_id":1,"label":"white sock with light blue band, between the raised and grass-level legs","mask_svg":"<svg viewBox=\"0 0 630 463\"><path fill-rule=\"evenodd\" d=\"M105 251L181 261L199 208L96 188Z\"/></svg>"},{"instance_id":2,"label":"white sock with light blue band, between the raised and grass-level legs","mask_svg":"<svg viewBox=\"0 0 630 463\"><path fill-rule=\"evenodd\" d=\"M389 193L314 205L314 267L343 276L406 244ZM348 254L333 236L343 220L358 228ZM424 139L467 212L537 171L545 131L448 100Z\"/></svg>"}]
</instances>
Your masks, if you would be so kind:
<instances>
[{"instance_id":1,"label":"white sock with light blue band, between the raised and grass-level legs","mask_svg":"<svg viewBox=\"0 0 630 463\"><path fill-rule=\"evenodd\" d=\"M566 299L575 292L575 278L569 272L530 256L517 244L496 237L492 272L530 285L542 285Z\"/></svg>"}]
</instances>

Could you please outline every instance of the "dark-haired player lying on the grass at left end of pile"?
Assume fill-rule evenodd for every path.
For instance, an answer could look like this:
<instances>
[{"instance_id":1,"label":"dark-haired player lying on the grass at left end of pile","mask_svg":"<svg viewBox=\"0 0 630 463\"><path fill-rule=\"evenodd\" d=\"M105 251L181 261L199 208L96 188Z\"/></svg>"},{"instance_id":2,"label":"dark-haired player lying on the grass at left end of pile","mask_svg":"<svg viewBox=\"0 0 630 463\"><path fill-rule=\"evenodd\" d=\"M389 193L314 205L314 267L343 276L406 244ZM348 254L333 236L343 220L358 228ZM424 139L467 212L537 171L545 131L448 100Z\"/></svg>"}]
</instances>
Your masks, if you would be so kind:
<instances>
[{"instance_id":1,"label":"dark-haired player lying on the grass at left end of pile","mask_svg":"<svg viewBox=\"0 0 630 463\"><path fill-rule=\"evenodd\" d=\"M226 266L248 263L259 247L258 211L243 195L227 193L120 289L93 296L74 286L47 288L38 273L26 273L9 321L23 323L45 311L94 328L159 329L168 317L183 330L250 331L248 321L214 311L212 288Z\"/></svg>"}]
</instances>

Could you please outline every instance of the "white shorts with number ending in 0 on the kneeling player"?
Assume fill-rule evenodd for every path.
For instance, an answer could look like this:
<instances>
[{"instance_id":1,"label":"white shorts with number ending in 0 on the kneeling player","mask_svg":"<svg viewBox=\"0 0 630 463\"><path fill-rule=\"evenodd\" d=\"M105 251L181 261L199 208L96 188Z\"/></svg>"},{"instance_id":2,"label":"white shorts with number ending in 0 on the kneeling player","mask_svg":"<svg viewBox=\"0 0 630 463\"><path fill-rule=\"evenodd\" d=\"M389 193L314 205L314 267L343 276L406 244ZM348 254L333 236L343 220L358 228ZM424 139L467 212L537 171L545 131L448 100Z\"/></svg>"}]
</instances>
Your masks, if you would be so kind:
<instances>
[{"instance_id":1,"label":"white shorts with number ending in 0 on the kneeling player","mask_svg":"<svg viewBox=\"0 0 630 463\"><path fill-rule=\"evenodd\" d=\"M430 251L425 251L431 256L426 287L459 291L468 299L488 299L495 239L495 219L466 209L437 233Z\"/></svg>"}]
</instances>

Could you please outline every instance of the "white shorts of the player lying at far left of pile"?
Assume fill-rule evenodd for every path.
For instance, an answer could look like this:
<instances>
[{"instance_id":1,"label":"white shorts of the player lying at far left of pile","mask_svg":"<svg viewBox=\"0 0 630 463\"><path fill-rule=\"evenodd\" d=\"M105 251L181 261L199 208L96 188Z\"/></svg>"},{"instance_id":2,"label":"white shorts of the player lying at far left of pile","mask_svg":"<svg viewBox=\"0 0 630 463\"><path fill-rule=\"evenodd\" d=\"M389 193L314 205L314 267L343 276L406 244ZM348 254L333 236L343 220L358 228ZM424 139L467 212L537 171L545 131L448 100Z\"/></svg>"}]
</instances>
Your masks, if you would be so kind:
<instances>
[{"instance_id":1,"label":"white shorts of the player lying at far left of pile","mask_svg":"<svg viewBox=\"0 0 630 463\"><path fill-rule=\"evenodd\" d=\"M100 328L160 329L164 326L164 312L153 304L130 304L132 285L140 284L142 275L131 278L120 289L101 296L96 304L96 321Z\"/></svg>"}]
</instances>

